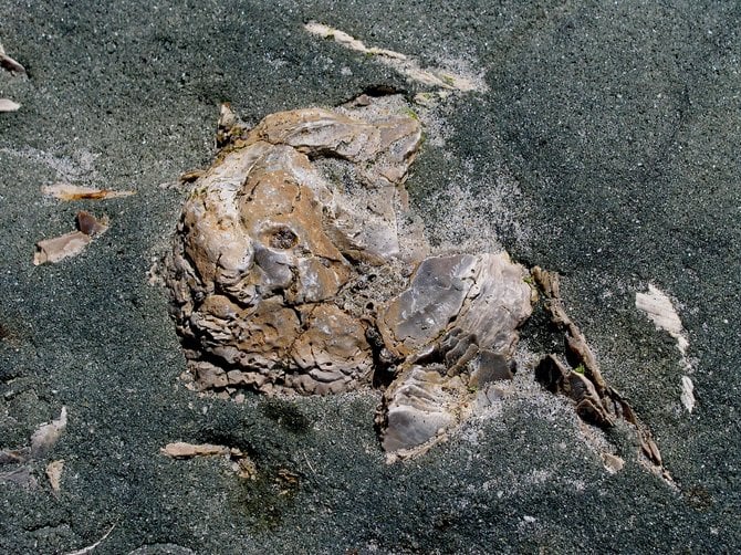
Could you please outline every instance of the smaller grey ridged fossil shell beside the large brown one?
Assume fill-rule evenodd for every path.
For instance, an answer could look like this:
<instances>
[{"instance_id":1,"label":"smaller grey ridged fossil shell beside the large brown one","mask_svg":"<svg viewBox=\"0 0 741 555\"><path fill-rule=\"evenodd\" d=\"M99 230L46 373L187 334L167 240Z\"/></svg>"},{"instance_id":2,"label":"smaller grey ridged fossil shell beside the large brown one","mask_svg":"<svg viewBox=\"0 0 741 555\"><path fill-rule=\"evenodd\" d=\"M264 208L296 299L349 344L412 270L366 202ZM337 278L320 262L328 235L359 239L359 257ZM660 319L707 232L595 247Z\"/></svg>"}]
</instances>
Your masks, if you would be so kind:
<instances>
[{"instance_id":1,"label":"smaller grey ridged fossil shell beside the large brown one","mask_svg":"<svg viewBox=\"0 0 741 555\"><path fill-rule=\"evenodd\" d=\"M382 444L417 454L471 412L477 390L512 377L516 328L531 314L526 270L499 254L429 258L378 316L404 357L376 417Z\"/></svg>"}]
</instances>

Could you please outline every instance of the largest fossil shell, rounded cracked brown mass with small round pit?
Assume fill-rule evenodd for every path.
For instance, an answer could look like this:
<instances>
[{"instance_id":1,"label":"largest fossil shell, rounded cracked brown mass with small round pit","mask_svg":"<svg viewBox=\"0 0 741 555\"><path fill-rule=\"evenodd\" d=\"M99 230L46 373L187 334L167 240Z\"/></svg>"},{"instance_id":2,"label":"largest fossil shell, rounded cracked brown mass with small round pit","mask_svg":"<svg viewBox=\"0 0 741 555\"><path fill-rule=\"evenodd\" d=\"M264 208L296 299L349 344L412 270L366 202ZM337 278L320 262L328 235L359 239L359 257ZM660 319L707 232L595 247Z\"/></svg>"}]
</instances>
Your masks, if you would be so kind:
<instances>
[{"instance_id":1,"label":"largest fossil shell, rounded cracked brown mass with small round pit","mask_svg":"<svg viewBox=\"0 0 741 555\"><path fill-rule=\"evenodd\" d=\"M250 130L222 108L226 148L188 197L167 262L198 388L324 394L368 380L361 290L427 253L403 188L421 130L399 103L281 112Z\"/></svg>"}]
</instances>

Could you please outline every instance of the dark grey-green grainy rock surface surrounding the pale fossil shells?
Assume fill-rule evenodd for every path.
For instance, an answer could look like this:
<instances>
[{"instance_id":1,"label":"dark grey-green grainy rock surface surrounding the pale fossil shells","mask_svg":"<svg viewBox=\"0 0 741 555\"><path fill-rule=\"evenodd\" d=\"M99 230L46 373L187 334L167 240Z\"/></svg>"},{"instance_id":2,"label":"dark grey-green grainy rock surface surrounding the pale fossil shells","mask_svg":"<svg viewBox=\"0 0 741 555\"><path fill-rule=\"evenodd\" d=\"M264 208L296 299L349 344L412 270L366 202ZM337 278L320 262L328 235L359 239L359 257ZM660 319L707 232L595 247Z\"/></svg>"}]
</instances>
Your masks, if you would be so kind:
<instances>
[{"instance_id":1,"label":"dark grey-green grainy rock surface surrounding the pale fossil shells","mask_svg":"<svg viewBox=\"0 0 741 555\"><path fill-rule=\"evenodd\" d=\"M739 547L738 2L435 3L0 0L0 42L28 70L0 73L0 97L22 104L0 114L0 449L69 411L31 464L39 486L0 483L0 552L70 553L108 531L93 553ZM307 34L309 20L482 74L488 92L441 107L445 144L426 145L413 201L435 230L457 221L456 202L440 206L453 186L481 206L498 199L468 226L562 273L564 303L654 430L678 491L629 460L622 428L609 439L626 468L607 473L571 407L528 388L526 368L497 418L392 467L373 429L376 394L237 405L184 387L147 271L179 213L178 176L213 155L219 103L255 123L368 86L420 91ZM58 181L136 195L41 196ZM70 231L80 209L111 229L77 258L33 266L34 243ZM691 415L672 339L634 306L648 283L679 303ZM528 345L543 342L533 332ZM239 447L258 480L159 454L176 440ZM44 468L59 459L54 496Z\"/></svg>"}]
</instances>

